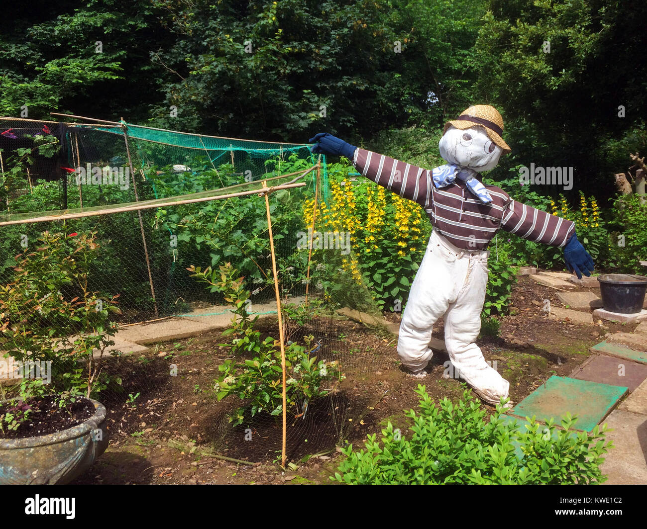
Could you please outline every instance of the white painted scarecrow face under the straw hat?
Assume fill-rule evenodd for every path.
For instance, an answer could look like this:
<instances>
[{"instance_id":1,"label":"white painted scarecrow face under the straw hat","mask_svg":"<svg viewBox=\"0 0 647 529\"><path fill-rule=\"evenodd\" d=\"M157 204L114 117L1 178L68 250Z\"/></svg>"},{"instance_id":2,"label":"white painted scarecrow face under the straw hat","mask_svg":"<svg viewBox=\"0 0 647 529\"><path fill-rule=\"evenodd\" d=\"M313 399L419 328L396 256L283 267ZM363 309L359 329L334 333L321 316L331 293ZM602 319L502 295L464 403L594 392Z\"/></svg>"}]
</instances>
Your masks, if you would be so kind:
<instances>
[{"instance_id":1,"label":"white painted scarecrow face under the straw hat","mask_svg":"<svg viewBox=\"0 0 647 529\"><path fill-rule=\"evenodd\" d=\"M483 127L457 129L449 127L438 148L446 162L459 167L470 167L477 173L494 169L503 149L488 137Z\"/></svg>"}]
</instances>

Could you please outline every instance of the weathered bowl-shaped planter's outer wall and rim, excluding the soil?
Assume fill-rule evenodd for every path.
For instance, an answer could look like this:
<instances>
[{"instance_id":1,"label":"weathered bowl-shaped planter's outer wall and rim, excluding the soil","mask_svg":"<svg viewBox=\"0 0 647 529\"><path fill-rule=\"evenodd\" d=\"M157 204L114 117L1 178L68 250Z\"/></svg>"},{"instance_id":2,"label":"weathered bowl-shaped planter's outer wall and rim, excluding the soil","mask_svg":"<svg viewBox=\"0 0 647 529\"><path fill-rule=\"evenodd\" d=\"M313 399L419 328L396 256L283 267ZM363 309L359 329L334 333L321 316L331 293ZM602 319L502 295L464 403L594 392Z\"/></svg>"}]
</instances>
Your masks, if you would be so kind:
<instances>
[{"instance_id":1,"label":"weathered bowl-shaped planter's outer wall and rim, excluding the soil","mask_svg":"<svg viewBox=\"0 0 647 529\"><path fill-rule=\"evenodd\" d=\"M0 439L0 484L66 484L90 468L108 446L105 406L91 401L94 415L81 424L38 437Z\"/></svg>"}]
</instances>

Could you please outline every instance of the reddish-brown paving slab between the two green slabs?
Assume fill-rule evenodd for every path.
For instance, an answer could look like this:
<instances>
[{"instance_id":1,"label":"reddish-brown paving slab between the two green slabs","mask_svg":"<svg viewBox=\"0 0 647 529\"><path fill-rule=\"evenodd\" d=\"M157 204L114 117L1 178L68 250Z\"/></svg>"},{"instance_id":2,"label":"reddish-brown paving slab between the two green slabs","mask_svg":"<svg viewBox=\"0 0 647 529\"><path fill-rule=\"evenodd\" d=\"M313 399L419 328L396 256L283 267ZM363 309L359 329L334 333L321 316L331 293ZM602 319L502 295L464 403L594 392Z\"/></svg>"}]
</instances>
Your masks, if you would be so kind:
<instances>
[{"instance_id":1,"label":"reddish-brown paving slab between the two green slabs","mask_svg":"<svg viewBox=\"0 0 647 529\"><path fill-rule=\"evenodd\" d=\"M633 393L647 379L647 364L620 360L615 356L594 354L575 368L571 378L626 386Z\"/></svg>"}]
</instances>

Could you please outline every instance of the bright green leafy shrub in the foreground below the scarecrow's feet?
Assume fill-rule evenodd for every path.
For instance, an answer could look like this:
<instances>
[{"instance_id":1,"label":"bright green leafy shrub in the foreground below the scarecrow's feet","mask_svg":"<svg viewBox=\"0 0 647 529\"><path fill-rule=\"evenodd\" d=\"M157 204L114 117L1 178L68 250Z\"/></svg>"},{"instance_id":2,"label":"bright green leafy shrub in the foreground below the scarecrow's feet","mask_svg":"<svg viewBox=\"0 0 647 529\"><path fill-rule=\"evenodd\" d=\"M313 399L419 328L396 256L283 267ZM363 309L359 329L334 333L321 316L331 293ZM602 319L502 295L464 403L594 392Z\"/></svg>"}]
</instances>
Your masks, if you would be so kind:
<instances>
[{"instance_id":1,"label":"bright green leafy shrub in the foreground below the scarecrow's feet","mask_svg":"<svg viewBox=\"0 0 647 529\"><path fill-rule=\"evenodd\" d=\"M602 454L612 448L604 444L606 426L591 433L569 431L575 419L562 420L564 430L553 438L553 422L546 426L529 419L520 431L503 419L503 407L487 421L481 403L465 391L457 405L448 398L435 407L425 387L419 413L406 416L413 421L410 438L389 422L382 430L382 446L369 435L365 449L344 449L342 461L331 480L348 484L589 484L602 483ZM515 454L515 440L523 456Z\"/></svg>"}]
</instances>

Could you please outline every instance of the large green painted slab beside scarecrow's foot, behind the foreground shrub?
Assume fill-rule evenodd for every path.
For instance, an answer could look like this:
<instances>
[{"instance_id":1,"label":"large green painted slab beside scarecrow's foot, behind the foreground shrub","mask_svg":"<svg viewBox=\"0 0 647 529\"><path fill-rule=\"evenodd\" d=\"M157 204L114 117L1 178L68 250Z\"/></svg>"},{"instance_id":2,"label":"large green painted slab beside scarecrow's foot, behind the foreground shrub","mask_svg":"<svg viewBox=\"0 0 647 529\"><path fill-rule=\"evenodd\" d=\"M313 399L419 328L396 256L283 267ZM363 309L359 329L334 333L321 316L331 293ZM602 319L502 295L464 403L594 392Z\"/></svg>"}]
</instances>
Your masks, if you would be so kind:
<instances>
[{"instance_id":1,"label":"large green painted slab beside scarecrow's foot, behind the foreground shrub","mask_svg":"<svg viewBox=\"0 0 647 529\"><path fill-rule=\"evenodd\" d=\"M542 422L554 418L556 424L561 423L566 413L571 413L578 416L577 429L591 431L625 393L624 386L551 376L510 413L521 418L534 415Z\"/></svg>"}]
</instances>

